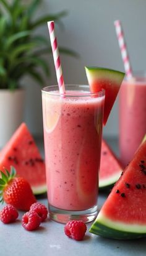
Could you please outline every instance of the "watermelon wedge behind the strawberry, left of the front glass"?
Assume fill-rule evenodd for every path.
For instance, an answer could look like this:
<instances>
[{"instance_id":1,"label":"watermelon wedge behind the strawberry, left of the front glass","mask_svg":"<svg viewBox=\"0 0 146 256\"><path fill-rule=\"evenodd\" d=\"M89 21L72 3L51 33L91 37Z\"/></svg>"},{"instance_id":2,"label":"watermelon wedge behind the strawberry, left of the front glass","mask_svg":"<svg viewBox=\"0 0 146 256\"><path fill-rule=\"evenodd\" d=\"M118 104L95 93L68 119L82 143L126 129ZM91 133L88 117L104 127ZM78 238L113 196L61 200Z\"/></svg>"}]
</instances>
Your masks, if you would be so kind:
<instances>
[{"instance_id":1,"label":"watermelon wedge behind the strawberry, left of the front glass","mask_svg":"<svg viewBox=\"0 0 146 256\"><path fill-rule=\"evenodd\" d=\"M34 194L46 192L45 163L25 123L19 126L0 152L0 170L6 168L10 171L11 165L17 170L17 175L30 183Z\"/></svg>"}]
</instances>

